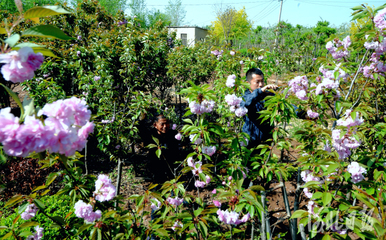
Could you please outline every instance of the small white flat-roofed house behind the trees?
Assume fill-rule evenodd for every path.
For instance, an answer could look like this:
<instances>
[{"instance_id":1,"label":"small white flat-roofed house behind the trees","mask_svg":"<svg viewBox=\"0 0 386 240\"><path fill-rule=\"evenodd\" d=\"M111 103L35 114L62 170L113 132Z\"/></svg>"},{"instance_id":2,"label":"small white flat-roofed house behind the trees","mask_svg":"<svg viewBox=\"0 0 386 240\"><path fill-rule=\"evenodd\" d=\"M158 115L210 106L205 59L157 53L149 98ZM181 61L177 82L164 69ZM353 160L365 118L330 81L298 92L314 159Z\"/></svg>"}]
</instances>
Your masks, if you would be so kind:
<instances>
[{"instance_id":1,"label":"small white flat-roofed house behind the trees","mask_svg":"<svg viewBox=\"0 0 386 240\"><path fill-rule=\"evenodd\" d=\"M181 39L185 46L194 46L198 41L204 41L208 30L200 27L168 27L169 33L176 32L177 39Z\"/></svg>"}]
</instances>

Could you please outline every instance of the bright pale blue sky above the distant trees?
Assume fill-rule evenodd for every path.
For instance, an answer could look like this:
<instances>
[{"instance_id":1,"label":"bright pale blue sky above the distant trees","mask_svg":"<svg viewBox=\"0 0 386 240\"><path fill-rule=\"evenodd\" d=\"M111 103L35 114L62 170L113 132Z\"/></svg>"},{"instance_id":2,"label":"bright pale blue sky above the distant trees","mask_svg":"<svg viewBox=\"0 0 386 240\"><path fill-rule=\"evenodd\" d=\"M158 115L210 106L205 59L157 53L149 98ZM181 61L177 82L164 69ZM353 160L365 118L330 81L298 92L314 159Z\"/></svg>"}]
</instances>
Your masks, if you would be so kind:
<instances>
[{"instance_id":1,"label":"bright pale blue sky above the distant trees","mask_svg":"<svg viewBox=\"0 0 386 240\"><path fill-rule=\"evenodd\" d=\"M163 11L168 0L145 0L148 9ZM284 0L281 20L293 25L313 27L321 19L331 25L340 26L351 19L350 8L365 3L365 0ZM385 1L367 1L369 6L378 7ZM232 6L239 10L245 6L248 18L253 26L268 27L277 24L279 18L280 1L278 0L182 0L186 11L185 24L206 26L215 21L216 6Z\"/></svg>"}]
</instances>

